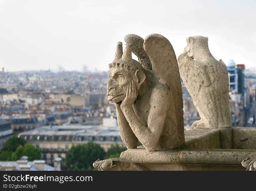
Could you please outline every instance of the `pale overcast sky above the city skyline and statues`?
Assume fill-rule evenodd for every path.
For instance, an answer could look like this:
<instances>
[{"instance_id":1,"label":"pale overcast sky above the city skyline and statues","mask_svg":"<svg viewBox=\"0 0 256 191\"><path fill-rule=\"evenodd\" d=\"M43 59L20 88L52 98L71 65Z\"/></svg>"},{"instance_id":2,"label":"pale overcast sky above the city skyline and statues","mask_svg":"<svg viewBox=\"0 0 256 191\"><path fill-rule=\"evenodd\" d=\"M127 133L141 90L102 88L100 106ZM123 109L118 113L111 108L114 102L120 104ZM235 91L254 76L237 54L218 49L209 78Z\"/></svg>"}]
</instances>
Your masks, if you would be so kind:
<instances>
[{"instance_id":1,"label":"pale overcast sky above the city skyline and statues","mask_svg":"<svg viewBox=\"0 0 256 191\"><path fill-rule=\"evenodd\" d=\"M255 7L255 0L0 0L0 67L108 70L130 33L165 36L177 57L186 37L208 36L217 60L256 67Z\"/></svg>"}]
</instances>

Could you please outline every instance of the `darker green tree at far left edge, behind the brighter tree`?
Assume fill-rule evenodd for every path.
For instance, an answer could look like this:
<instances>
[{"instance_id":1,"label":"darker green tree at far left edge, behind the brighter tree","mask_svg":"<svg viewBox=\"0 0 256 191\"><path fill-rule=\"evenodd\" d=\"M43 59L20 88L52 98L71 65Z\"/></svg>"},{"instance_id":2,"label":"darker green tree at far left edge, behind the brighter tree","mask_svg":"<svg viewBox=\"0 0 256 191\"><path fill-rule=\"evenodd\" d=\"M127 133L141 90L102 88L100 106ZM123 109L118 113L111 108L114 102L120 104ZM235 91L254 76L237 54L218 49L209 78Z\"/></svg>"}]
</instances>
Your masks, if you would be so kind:
<instances>
[{"instance_id":1,"label":"darker green tree at far left edge, behind the brighter tree","mask_svg":"<svg viewBox=\"0 0 256 191\"><path fill-rule=\"evenodd\" d=\"M26 140L22 137L18 137L17 135L14 135L13 137L9 138L0 151L0 160L11 160L12 153L16 151L19 145L24 146L25 144Z\"/></svg>"}]
</instances>

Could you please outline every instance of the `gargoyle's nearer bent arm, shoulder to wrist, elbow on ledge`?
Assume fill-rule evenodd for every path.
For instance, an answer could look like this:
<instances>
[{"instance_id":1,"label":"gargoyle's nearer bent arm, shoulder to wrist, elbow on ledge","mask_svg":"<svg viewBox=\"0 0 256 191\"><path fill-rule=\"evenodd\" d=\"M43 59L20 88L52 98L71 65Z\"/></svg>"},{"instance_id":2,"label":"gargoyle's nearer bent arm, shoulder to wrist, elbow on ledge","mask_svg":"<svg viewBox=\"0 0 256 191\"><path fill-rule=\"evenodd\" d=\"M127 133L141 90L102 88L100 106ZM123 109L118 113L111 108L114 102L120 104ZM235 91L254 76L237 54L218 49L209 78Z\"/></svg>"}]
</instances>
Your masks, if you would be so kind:
<instances>
[{"instance_id":1,"label":"gargoyle's nearer bent arm, shoulder to wrist, elbow on ledge","mask_svg":"<svg viewBox=\"0 0 256 191\"><path fill-rule=\"evenodd\" d=\"M157 147L169 107L166 103L168 103L168 99L171 99L170 97L169 87L165 88L160 85L154 88L151 95L147 126L140 122L132 105L122 108L131 130L147 151L155 151Z\"/></svg>"}]
</instances>

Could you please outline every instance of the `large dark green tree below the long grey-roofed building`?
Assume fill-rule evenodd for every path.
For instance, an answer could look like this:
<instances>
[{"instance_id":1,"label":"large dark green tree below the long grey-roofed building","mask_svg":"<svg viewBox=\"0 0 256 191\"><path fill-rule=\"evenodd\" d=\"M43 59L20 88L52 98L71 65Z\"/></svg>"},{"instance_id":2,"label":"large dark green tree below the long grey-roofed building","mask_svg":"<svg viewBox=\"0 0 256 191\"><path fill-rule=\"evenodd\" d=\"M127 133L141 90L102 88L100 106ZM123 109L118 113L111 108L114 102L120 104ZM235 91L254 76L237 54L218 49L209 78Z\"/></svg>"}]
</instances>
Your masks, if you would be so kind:
<instances>
[{"instance_id":1,"label":"large dark green tree below the long grey-roofed building","mask_svg":"<svg viewBox=\"0 0 256 191\"><path fill-rule=\"evenodd\" d=\"M66 153L66 170L94 170L93 163L95 160L103 159L105 156L104 149L96 143L88 142L72 146Z\"/></svg>"}]
</instances>

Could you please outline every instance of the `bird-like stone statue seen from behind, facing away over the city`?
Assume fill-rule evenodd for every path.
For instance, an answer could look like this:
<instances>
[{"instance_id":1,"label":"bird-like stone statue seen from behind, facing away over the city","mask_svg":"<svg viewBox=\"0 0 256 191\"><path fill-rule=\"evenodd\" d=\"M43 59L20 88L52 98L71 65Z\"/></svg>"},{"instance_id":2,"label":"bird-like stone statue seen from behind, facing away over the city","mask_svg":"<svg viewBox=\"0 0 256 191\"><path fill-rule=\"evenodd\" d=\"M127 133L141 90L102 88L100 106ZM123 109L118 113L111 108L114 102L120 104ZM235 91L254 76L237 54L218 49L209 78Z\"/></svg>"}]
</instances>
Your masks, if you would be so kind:
<instances>
[{"instance_id":1,"label":"bird-like stone statue seen from behind, facing away over the city","mask_svg":"<svg viewBox=\"0 0 256 191\"><path fill-rule=\"evenodd\" d=\"M179 72L201 117L191 128L232 128L226 65L211 55L207 37L188 37L187 43Z\"/></svg>"}]
</instances>

